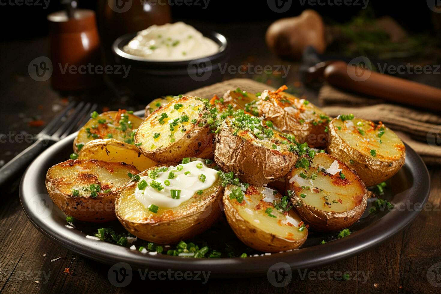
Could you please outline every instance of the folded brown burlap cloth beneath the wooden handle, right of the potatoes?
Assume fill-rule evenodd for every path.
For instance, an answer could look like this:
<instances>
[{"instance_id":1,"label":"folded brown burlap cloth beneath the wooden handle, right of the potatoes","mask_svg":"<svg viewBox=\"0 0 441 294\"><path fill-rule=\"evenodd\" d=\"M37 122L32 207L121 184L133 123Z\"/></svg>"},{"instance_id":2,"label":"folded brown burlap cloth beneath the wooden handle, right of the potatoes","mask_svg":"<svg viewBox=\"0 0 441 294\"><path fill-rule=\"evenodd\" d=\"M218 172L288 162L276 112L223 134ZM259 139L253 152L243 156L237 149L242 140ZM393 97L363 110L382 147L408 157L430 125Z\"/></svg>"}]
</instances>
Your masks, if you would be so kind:
<instances>
[{"instance_id":1,"label":"folded brown burlap cloth beneath the wooden handle, right of the potatoes","mask_svg":"<svg viewBox=\"0 0 441 294\"><path fill-rule=\"evenodd\" d=\"M426 164L441 164L441 146L427 143L428 137L429 141L435 141L437 134L441 134L440 115L346 93L329 85L321 87L318 99L321 109L330 116L352 113L363 119L383 122L411 146Z\"/></svg>"}]
</instances>

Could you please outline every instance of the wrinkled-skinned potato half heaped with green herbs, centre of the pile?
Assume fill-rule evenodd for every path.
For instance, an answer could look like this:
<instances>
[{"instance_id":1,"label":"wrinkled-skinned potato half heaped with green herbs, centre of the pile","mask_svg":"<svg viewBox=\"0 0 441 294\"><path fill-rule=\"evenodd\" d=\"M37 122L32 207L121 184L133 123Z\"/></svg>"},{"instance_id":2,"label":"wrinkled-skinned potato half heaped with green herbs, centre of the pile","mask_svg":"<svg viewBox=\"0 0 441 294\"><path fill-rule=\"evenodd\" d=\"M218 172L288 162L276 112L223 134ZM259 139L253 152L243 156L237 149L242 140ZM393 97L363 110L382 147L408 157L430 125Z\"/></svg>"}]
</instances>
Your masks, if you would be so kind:
<instances>
[{"instance_id":1,"label":"wrinkled-skinned potato half heaped with green herbs, centre of the pile","mask_svg":"<svg viewBox=\"0 0 441 294\"><path fill-rule=\"evenodd\" d=\"M263 185L280 179L294 166L295 147L284 134L239 110L221 122L213 154L222 171L233 171L243 182Z\"/></svg>"}]
</instances>

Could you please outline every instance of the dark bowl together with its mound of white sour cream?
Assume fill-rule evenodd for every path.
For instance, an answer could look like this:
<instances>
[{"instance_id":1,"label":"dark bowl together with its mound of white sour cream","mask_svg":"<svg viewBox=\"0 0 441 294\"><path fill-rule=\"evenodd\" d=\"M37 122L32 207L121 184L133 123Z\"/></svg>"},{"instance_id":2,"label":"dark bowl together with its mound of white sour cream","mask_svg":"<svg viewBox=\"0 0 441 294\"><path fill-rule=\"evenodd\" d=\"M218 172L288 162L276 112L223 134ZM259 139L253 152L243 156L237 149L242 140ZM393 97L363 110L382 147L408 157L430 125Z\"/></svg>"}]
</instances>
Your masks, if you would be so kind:
<instances>
[{"instance_id":1,"label":"dark bowl together with its mound of white sour cream","mask_svg":"<svg viewBox=\"0 0 441 294\"><path fill-rule=\"evenodd\" d=\"M123 35L112 52L116 65L127 69L119 84L152 100L220 82L229 43L220 33L175 22Z\"/></svg>"}]
</instances>

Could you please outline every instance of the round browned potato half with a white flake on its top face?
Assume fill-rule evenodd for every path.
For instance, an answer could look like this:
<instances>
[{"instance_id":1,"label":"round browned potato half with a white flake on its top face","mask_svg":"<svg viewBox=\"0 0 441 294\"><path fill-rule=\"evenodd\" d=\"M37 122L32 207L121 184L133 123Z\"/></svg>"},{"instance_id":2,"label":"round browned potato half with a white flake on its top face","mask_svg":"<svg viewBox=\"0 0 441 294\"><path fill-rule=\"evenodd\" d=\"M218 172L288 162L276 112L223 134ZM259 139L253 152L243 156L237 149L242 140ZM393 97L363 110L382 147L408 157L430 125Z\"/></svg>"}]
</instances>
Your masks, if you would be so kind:
<instances>
[{"instance_id":1,"label":"round browned potato half with a white flake on its top face","mask_svg":"<svg viewBox=\"0 0 441 294\"><path fill-rule=\"evenodd\" d=\"M301 156L286 177L287 194L300 217L316 231L351 226L366 208L367 190L357 174L326 153Z\"/></svg>"}]
</instances>

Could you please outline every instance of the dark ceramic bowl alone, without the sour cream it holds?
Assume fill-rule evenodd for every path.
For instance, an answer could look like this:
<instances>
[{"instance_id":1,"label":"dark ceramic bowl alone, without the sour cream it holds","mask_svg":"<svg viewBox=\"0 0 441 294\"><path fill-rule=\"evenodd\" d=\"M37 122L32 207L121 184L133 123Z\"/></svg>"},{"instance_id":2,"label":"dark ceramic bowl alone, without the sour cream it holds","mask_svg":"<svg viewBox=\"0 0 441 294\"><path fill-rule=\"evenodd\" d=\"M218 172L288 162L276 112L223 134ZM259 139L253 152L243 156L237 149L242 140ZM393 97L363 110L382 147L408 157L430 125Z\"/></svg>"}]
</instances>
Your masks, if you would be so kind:
<instances>
[{"instance_id":1,"label":"dark ceramic bowl alone, without the sour cream it holds","mask_svg":"<svg viewBox=\"0 0 441 294\"><path fill-rule=\"evenodd\" d=\"M146 101L146 98L153 100L165 95L183 94L220 82L221 68L228 62L229 42L220 33L202 33L219 45L219 51L207 57L185 61L151 61L128 54L123 47L136 33L119 37L112 45L115 63L126 68L130 66L130 69L127 77L117 77L117 84L127 87L135 97Z\"/></svg>"}]
</instances>

